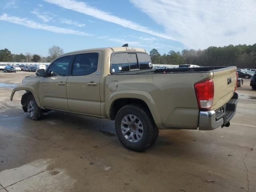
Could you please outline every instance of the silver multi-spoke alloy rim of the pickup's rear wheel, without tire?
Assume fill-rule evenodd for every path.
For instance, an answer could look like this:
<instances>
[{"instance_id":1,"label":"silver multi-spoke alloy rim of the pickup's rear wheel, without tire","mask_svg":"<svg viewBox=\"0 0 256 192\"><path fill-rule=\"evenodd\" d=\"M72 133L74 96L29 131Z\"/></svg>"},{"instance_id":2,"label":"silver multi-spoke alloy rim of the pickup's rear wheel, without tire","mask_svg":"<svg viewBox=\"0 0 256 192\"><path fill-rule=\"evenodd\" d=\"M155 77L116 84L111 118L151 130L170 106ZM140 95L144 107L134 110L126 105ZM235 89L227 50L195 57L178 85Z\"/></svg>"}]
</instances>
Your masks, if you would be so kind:
<instances>
[{"instance_id":1,"label":"silver multi-spoke alloy rim of the pickup's rear wheel, without tire","mask_svg":"<svg viewBox=\"0 0 256 192\"><path fill-rule=\"evenodd\" d=\"M144 133L142 122L132 114L124 116L121 122L121 130L124 138L132 143L139 142Z\"/></svg>"}]
</instances>

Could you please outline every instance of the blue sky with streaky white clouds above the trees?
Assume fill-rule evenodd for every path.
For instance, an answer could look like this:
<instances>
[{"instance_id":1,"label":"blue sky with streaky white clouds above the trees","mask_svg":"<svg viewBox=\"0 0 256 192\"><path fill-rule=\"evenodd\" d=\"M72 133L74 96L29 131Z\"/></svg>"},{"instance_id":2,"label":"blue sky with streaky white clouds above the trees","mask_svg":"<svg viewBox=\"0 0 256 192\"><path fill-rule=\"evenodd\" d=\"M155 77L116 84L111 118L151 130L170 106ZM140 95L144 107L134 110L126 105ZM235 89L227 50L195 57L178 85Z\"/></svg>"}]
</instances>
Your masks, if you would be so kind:
<instances>
[{"instance_id":1,"label":"blue sky with streaky white clouds above the trees","mask_svg":"<svg viewBox=\"0 0 256 192\"><path fill-rule=\"evenodd\" d=\"M0 49L48 56L122 46L170 50L256 43L256 0L0 0Z\"/></svg>"}]
</instances>

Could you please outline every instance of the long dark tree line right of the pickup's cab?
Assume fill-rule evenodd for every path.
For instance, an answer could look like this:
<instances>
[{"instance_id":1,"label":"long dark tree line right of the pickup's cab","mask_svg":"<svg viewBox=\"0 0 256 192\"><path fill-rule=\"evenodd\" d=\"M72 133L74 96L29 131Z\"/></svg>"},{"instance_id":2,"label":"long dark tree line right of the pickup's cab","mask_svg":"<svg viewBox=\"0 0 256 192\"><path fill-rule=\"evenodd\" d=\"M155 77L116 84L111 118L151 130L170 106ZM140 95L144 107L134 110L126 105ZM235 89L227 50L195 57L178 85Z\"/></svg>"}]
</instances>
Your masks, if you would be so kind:
<instances>
[{"instance_id":1,"label":"long dark tree line right of the pickup's cab","mask_svg":"<svg viewBox=\"0 0 256 192\"><path fill-rule=\"evenodd\" d=\"M199 66L237 66L238 68L256 68L256 44L210 46L204 50L184 49L182 52L171 50L161 55L152 49L150 57L153 64L193 64Z\"/></svg>"}]
</instances>

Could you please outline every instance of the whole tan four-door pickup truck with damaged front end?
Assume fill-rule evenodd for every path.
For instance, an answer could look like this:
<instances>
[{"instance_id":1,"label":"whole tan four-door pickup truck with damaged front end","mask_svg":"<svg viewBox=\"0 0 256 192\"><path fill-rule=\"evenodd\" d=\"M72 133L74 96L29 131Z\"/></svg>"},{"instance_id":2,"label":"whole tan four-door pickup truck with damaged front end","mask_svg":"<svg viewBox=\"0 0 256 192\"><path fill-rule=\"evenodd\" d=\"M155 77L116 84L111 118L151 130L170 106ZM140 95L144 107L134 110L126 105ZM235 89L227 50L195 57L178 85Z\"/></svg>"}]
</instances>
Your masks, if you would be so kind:
<instances>
[{"instance_id":1,"label":"whole tan four-door pickup truck with damaged front end","mask_svg":"<svg viewBox=\"0 0 256 192\"><path fill-rule=\"evenodd\" d=\"M66 53L22 80L21 104L39 120L58 110L115 120L120 142L146 150L158 129L213 130L236 111L236 67L153 69L146 50L95 48Z\"/></svg>"}]
</instances>

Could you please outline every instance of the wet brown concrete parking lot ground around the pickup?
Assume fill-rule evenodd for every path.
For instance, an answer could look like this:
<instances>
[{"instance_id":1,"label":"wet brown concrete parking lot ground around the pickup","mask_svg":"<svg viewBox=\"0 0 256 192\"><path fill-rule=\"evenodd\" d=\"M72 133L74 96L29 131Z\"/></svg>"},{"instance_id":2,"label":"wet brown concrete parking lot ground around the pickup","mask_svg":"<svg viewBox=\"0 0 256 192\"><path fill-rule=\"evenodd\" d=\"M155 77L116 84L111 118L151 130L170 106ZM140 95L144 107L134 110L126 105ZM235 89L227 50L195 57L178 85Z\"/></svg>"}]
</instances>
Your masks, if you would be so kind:
<instances>
[{"instance_id":1,"label":"wet brown concrete parking lot ground around the pickup","mask_svg":"<svg viewBox=\"0 0 256 192\"><path fill-rule=\"evenodd\" d=\"M33 121L12 88L32 72L0 72L0 192L256 191L256 91L238 88L230 127L160 130L145 152L124 148L114 122L51 111Z\"/></svg>"}]
</instances>

